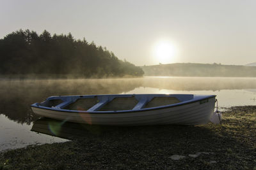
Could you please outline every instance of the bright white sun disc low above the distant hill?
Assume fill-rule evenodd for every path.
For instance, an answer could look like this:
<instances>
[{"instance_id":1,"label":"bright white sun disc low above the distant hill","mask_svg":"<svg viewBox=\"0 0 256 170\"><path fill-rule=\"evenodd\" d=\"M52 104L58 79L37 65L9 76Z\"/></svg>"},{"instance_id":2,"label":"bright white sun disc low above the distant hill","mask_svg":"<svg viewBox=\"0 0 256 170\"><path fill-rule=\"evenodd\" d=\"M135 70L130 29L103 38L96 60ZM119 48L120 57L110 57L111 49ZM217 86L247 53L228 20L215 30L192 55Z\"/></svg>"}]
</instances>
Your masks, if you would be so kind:
<instances>
[{"instance_id":1,"label":"bright white sun disc low above the distant hill","mask_svg":"<svg viewBox=\"0 0 256 170\"><path fill-rule=\"evenodd\" d=\"M170 41L159 41L154 47L155 60L160 63L174 62L174 57L177 53L177 47Z\"/></svg>"}]
</instances>

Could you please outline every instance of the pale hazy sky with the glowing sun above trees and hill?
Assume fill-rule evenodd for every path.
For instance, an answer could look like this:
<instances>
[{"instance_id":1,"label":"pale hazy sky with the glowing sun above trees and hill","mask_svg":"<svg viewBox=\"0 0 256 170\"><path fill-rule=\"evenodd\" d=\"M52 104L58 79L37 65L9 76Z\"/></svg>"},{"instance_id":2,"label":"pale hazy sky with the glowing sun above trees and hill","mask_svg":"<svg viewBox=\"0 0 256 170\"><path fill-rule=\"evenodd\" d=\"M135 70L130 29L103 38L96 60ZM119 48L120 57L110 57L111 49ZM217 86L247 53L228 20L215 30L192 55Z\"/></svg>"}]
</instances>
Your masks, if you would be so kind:
<instances>
[{"instance_id":1,"label":"pale hazy sky with the glowing sun above trees and hill","mask_svg":"<svg viewBox=\"0 0 256 170\"><path fill-rule=\"evenodd\" d=\"M0 0L0 38L19 29L106 46L136 66L256 62L255 0Z\"/></svg>"}]
</instances>

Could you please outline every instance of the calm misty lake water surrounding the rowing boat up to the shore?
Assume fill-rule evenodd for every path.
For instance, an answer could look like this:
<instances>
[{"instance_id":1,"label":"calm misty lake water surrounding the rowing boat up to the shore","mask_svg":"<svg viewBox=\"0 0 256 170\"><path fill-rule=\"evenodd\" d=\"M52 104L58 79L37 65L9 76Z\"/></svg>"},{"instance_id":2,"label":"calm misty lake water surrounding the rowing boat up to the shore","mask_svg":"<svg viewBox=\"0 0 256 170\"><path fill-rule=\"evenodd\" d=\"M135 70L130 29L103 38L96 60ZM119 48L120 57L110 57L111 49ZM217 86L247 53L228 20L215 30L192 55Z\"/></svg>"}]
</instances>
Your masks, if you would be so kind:
<instances>
[{"instance_id":1,"label":"calm misty lake water surrounding the rowing boat up to the shore","mask_svg":"<svg viewBox=\"0 0 256 170\"><path fill-rule=\"evenodd\" d=\"M219 106L224 108L256 105L256 78L144 77L89 80L2 79L0 80L0 152L27 145L67 141L67 139L63 139L68 138L65 137L67 136L67 132L59 133L60 135L56 133L56 129L60 130L60 126L58 125L61 123L49 123L49 120L44 119L38 120L39 117L36 117L30 109L31 104L44 101L49 96L158 93L215 94L217 95ZM68 130L70 126L74 126L74 124L63 125L62 129ZM43 129L45 134L34 132L35 128L38 127L41 130ZM82 130L83 128L88 130L89 127L84 126ZM46 132L47 129L49 130L48 132ZM72 131L74 131L74 128ZM61 138L47 135L47 133L61 136ZM81 134L81 131L77 131L77 135L79 133Z\"/></svg>"}]
</instances>

